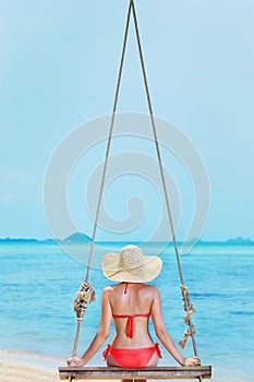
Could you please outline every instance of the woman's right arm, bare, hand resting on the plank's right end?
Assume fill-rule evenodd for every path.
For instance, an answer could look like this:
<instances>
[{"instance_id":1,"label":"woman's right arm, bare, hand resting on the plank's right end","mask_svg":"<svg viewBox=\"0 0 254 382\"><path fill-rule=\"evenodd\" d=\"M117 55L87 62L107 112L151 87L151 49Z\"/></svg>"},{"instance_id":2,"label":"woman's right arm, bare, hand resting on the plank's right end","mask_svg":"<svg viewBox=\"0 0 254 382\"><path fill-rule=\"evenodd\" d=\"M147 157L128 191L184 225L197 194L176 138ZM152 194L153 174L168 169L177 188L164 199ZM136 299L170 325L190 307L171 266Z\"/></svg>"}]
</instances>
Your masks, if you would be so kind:
<instances>
[{"instance_id":1,"label":"woman's right arm, bare, hand resting on the plank's right end","mask_svg":"<svg viewBox=\"0 0 254 382\"><path fill-rule=\"evenodd\" d=\"M155 325L155 332L161 344L170 353L170 355L182 366L196 366L201 365L197 357L184 358L177 348L174 342L167 332L161 313L161 300L157 288L154 291L154 301L152 305L152 319Z\"/></svg>"}]
</instances>

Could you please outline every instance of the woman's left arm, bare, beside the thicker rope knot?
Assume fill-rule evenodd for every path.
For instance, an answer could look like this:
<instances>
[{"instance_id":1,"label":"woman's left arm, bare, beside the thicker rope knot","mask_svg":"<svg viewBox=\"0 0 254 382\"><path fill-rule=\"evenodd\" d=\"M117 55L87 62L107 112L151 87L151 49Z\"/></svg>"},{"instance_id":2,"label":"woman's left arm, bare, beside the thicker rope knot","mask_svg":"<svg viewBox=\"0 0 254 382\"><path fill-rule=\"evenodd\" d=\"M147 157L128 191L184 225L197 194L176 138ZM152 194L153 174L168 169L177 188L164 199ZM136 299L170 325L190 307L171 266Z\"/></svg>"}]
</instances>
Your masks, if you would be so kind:
<instances>
[{"instance_id":1,"label":"woman's left arm, bare, beside the thicker rope knot","mask_svg":"<svg viewBox=\"0 0 254 382\"><path fill-rule=\"evenodd\" d=\"M112 319L112 311L109 303L109 293L110 287L107 287L102 291L102 299L101 299L101 315L100 315L100 325L99 330L96 333L94 339L92 341L90 345L88 346L87 350L83 354L81 358L72 357L68 359L69 366L77 366L82 367L85 363L88 362L88 360L94 357L94 355L99 350L99 348L102 346L105 341L109 336L110 331L110 324Z\"/></svg>"}]
</instances>

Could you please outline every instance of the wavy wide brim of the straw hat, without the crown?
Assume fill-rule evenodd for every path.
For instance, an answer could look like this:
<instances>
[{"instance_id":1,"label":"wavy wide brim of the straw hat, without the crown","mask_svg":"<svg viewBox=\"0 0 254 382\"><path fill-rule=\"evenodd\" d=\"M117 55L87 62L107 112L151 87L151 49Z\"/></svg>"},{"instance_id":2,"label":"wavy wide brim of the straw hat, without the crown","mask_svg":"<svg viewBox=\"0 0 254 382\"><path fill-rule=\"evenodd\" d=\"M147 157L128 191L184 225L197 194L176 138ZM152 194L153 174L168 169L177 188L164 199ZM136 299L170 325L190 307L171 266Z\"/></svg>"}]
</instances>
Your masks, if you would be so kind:
<instances>
[{"instance_id":1,"label":"wavy wide brim of the straw hat, without the crown","mask_svg":"<svg viewBox=\"0 0 254 382\"><path fill-rule=\"evenodd\" d=\"M128 270L121 267L119 253L107 253L102 258L104 275L112 282L152 282L159 275L161 267L161 259L155 255L143 255L142 264Z\"/></svg>"}]
</instances>

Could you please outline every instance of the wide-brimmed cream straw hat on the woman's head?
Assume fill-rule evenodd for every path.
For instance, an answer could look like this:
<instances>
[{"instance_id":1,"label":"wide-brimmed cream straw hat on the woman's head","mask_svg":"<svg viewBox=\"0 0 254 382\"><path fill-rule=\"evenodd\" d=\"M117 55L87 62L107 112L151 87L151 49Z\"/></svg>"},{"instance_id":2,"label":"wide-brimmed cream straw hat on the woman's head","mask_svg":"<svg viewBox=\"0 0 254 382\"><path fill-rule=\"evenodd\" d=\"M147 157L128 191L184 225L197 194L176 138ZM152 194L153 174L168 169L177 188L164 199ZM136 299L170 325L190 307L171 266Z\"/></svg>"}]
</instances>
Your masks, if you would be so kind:
<instances>
[{"instance_id":1,"label":"wide-brimmed cream straw hat on the woman's head","mask_svg":"<svg viewBox=\"0 0 254 382\"><path fill-rule=\"evenodd\" d=\"M146 283L161 271L158 256L144 255L136 246L126 246L120 253L107 253L102 258L102 272L113 282Z\"/></svg>"}]
</instances>

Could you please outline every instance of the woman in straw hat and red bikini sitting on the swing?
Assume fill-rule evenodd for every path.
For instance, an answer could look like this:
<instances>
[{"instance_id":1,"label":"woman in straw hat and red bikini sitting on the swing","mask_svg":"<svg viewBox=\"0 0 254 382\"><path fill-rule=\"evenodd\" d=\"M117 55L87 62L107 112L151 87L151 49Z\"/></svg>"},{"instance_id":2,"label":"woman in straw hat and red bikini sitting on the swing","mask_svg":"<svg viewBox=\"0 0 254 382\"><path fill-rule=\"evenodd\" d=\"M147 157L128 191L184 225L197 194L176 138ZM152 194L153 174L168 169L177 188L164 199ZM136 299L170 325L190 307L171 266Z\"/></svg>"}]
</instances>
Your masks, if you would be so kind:
<instances>
[{"instance_id":1,"label":"woman in straw hat and red bikini sitting on the swing","mask_svg":"<svg viewBox=\"0 0 254 382\"><path fill-rule=\"evenodd\" d=\"M161 265L158 256L144 255L136 246L126 246L120 254L104 256L105 276L119 284L104 289L99 330L84 355L70 358L69 366L82 367L99 350L109 336L111 319L114 319L116 335L104 351L107 365L122 368L157 366L161 354L148 332L149 317L157 337L180 365L201 363L197 357L184 358L178 350L164 324L158 289L144 284L158 276Z\"/></svg>"}]
</instances>

